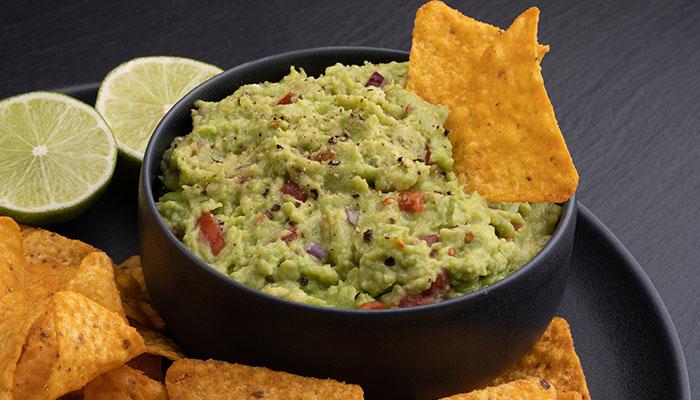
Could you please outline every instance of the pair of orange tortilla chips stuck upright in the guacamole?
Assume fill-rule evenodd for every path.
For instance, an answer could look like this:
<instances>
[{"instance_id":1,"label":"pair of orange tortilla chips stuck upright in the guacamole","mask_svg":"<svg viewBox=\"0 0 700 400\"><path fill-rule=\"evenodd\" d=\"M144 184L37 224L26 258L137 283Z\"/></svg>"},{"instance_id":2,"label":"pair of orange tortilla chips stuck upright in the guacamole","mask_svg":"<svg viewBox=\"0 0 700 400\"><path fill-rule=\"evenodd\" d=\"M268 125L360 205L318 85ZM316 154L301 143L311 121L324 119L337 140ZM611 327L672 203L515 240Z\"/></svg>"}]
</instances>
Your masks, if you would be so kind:
<instances>
[{"instance_id":1,"label":"pair of orange tortilla chips stuck upright in the guacamole","mask_svg":"<svg viewBox=\"0 0 700 400\"><path fill-rule=\"evenodd\" d=\"M533 7L501 31L439 1L416 13L406 87L450 107L455 173L489 201L560 203L578 185L542 79L538 20Z\"/></svg>"}]
</instances>

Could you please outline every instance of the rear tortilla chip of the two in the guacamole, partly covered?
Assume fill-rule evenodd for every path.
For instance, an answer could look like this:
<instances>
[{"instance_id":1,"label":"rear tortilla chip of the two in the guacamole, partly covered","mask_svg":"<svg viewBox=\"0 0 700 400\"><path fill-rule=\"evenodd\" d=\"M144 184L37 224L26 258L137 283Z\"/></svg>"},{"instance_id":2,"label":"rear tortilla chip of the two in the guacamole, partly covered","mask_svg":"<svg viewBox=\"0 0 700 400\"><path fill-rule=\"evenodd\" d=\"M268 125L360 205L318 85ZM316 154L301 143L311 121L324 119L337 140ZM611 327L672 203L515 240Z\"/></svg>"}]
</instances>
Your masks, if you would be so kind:
<instances>
[{"instance_id":1,"label":"rear tortilla chip of the two in the guacamole, partly covered","mask_svg":"<svg viewBox=\"0 0 700 400\"><path fill-rule=\"evenodd\" d=\"M481 55L502 33L441 1L424 4L416 11L406 89L432 104L463 104ZM549 46L537 49L541 60Z\"/></svg>"}]
</instances>

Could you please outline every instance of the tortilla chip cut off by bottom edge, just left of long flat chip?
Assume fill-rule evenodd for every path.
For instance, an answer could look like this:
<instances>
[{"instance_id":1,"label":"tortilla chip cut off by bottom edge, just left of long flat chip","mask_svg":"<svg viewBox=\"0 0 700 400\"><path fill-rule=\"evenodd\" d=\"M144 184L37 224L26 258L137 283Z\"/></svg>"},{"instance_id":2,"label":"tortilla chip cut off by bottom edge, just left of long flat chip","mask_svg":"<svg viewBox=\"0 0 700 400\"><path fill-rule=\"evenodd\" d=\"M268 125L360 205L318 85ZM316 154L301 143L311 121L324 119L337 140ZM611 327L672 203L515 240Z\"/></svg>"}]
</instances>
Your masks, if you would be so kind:
<instances>
[{"instance_id":1,"label":"tortilla chip cut off by bottom edge, just left of long flat chip","mask_svg":"<svg viewBox=\"0 0 700 400\"><path fill-rule=\"evenodd\" d=\"M168 400L165 385L126 365L93 379L83 392L85 400Z\"/></svg>"}]
</instances>

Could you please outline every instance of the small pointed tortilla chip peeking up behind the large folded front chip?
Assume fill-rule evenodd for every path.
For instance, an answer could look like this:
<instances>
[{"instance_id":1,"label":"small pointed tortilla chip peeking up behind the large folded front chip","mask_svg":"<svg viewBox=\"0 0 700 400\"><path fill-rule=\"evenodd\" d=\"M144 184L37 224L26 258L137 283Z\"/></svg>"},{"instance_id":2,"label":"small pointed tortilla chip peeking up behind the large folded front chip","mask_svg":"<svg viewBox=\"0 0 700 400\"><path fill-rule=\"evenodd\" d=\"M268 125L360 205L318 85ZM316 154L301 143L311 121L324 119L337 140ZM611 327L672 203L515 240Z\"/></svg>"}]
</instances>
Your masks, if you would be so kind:
<instances>
[{"instance_id":1,"label":"small pointed tortilla chip peeking up behind the large folded front chip","mask_svg":"<svg viewBox=\"0 0 700 400\"><path fill-rule=\"evenodd\" d=\"M112 260L103 252L90 253L80 263L63 290L82 293L106 309L125 317L122 300L114 281Z\"/></svg>"}]
</instances>

